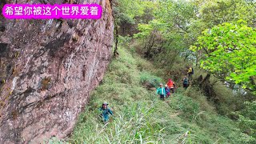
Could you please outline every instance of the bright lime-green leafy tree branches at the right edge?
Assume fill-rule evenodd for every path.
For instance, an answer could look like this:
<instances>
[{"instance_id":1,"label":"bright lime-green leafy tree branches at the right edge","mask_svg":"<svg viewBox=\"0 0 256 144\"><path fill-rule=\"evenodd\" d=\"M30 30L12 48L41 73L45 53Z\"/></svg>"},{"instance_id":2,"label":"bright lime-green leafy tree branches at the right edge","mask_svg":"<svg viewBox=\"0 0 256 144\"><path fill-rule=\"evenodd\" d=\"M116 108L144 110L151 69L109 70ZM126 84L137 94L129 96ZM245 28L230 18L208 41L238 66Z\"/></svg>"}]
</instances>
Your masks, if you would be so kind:
<instances>
[{"instance_id":1,"label":"bright lime-green leafy tree branches at the right edge","mask_svg":"<svg viewBox=\"0 0 256 144\"><path fill-rule=\"evenodd\" d=\"M240 20L203 31L190 49L201 55L203 69L255 92L255 46L256 30Z\"/></svg>"}]
</instances>

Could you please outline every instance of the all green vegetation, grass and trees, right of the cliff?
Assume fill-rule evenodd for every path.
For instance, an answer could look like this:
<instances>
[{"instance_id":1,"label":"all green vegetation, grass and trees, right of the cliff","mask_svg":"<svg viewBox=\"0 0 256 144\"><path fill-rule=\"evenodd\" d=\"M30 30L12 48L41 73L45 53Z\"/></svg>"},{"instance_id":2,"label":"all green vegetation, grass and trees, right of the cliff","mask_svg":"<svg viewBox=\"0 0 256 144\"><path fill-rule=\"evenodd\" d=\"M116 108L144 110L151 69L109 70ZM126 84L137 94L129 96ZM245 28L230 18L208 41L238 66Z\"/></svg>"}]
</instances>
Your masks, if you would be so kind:
<instances>
[{"instance_id":1,"label":"all green vegetation, grass and trees, right of the cliff","mask_svg":"<svg viewBox=\"0 0 256 144\"><path fill-rule=\"evenodd\" d=\"M256 143L255 1L114 0L113 9L115 57L70 142ZM155 88L167 78L177 93L161 101Z\"/></svg>"}]
</instances>

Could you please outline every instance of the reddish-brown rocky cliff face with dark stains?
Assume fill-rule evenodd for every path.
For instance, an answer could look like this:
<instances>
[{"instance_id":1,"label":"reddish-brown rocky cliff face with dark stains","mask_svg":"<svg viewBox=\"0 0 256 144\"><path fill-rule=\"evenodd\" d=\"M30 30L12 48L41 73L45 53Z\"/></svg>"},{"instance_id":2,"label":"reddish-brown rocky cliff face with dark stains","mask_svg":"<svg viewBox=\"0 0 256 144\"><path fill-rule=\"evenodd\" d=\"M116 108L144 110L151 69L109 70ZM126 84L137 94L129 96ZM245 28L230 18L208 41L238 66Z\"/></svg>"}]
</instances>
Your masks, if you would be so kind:
<instances>
[{"instance_id":1,"label":"reddish-brown rocky cliff face with dark stains","mask_svg":"<svg viewBox=\"0 0 256 144\"><path fill-rule=\"evenodd\" d=\"M25 1L7 3L64 3ZM110 62L110 0L99 20L5 20L0 30L0 143L66 138Z\"/></svg>"}]
</instances>

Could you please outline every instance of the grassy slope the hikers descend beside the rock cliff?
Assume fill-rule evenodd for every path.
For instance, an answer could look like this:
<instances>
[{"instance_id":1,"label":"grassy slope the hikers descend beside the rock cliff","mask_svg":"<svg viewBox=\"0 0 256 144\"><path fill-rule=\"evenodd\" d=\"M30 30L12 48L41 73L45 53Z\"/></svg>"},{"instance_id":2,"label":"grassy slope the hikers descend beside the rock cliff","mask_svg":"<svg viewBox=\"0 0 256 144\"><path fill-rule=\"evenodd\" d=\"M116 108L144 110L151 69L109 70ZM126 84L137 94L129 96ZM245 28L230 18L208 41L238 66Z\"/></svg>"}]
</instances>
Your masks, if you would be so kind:
<instances>
[{"instance_id":1,"label":"grassy slope the hikers descend beside the rock cliff","mask_svg":"<svg viewBox=\"0 0 256 144\"><path fill-rule=\"evenodd\" d=\"M195 88L178 89L162 102L143 81L158 78L150 62L120 49L102 84L91 93L70 142L74 143L241 143L246 140L236 124L214 112ZM161 78L158 78L161 79ZM163 82L163 81L162 81ZM108 125L98 119L98 107L109 102L114 117Z\"/></svg>"}]
</instances>

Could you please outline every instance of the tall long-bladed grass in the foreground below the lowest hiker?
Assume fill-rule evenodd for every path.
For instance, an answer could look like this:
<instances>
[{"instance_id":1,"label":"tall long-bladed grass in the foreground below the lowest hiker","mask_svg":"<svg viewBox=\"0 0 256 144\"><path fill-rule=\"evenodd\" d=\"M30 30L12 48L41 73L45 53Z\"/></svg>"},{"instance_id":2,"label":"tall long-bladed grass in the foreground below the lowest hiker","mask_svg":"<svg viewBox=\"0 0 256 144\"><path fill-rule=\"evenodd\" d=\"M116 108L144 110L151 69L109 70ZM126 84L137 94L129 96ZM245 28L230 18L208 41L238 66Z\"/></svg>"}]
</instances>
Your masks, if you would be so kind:
<instances>
[{"instance_id":1,"label":"tall long-bladed grass in the foreground below the lowest hiker","mask_svg":"<svg viewBox=\"0 0 256 144\"><path fill-rule=\"evenodd\" d=\"M94 118L97 114L90 114L89 112L80 118L82 124L74 130L75 132L70 142L155 142L154 140L161 139L159 135L161 135L163 129L162 122L152 117L152 114L154 114L154 104L147 107L145 103L138 102L125 106L122 112L115 114L109 124L103 125L98 122L97 118ZM86 122L84 122L85 117ZM90 118L90 120L87 118Z\"/></svg>"}]
</instances>

